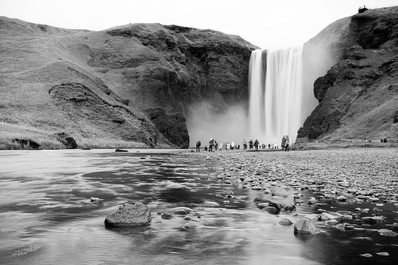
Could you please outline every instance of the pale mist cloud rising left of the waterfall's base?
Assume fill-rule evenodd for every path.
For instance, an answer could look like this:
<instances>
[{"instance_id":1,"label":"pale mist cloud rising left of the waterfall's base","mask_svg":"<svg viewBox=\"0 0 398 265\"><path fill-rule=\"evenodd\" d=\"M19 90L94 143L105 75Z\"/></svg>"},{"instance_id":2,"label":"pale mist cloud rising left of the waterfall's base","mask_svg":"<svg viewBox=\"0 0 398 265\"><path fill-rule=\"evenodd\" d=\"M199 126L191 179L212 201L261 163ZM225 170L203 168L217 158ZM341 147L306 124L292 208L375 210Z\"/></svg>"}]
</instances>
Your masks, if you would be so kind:
<instances>
[{"instance_id":1,"label":"pale mist cloud rising left of the waterfall's base","mask_svg":"<svg viewBox=\"0 0 398 265\"><path fill-rule=\"evenodd\" d=\"M222 142L223 147L232 141L242 146L243 139L248 139L247 104L240 102L231 104L222 102L225 110L220 111L214 103L201 102L190 106L187 127L190 135L190 146L196 146L201 141L201 147L208 147L210 138Z\"/></svg>"}]
</instances>

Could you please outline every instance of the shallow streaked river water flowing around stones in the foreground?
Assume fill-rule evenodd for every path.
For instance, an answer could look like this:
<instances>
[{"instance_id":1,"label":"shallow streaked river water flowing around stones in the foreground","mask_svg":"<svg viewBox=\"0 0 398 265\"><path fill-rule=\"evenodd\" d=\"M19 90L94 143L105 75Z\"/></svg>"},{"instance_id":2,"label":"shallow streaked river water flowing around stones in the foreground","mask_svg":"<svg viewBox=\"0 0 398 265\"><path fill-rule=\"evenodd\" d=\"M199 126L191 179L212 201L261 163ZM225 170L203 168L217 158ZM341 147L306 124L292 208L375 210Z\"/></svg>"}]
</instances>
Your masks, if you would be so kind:
<instances>
[{"instance_id":1,"label":"shallow streaked river water flowing around stones in the foreground","mask_svg":"<svg viewBox=\"0 0 398 265\"><path fill-rule=\"evenodd\" d=\"M0 264L395 264L398 258L398 238L376 231L397 222L392 204L378 207L385 223L353 220L354 230L341 231L314 222L319 234L295 235L293 226L275 224L282 218L294 222L319 206L298 206L297 216L261 211L252 201L264 194L209 179L211 161L136 151L0 151ZM226 189L235 197L216 195ZM128 201L147 204L152 224L105 228L105 216ZM181 207L194 210L190 216L198 228L180 229L186 222ZM322 206L357 207L375 205ZM166 211L174 218L157 215Z\"/></svg>"}]
</instances>

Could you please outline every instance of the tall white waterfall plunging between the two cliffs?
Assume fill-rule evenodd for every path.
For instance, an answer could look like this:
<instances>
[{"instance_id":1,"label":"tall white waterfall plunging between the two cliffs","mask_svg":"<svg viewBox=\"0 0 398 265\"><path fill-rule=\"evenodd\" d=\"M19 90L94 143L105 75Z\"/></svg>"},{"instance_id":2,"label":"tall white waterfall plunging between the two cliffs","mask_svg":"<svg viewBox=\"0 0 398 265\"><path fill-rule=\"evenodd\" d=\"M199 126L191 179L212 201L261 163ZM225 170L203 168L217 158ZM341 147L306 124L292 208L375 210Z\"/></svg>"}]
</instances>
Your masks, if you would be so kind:
<instances>
[{"instance_id":1,"label":"tall white waterfall plunging between the two cliffs","mask_svg":"<svg viewBox=\"0 0 398 265\"><path fill-rule=\"evenodd\" d=\"M256 50L249 63L250 136L260 143L281 145L284 135L295 141L303 125L303 47Z\"/></svg>"}]
</instances>

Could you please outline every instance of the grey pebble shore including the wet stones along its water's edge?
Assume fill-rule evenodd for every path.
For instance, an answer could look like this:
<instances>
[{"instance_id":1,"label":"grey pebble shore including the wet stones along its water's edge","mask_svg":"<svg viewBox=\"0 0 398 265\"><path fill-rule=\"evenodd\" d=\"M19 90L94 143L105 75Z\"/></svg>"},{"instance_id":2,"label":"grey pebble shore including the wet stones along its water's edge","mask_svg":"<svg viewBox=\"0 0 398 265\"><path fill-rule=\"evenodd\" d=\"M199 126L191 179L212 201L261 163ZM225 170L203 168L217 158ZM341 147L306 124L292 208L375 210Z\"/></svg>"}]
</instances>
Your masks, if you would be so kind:
<instances>
[{"instance_id":1,"label":"grey pebble shore including the wet stones along its water's edge","mask_svg":"<svg viewBox=\"0 0 398 265\"><path fill-rule=\"evenodd\" d=\"M352 220L360 221L360 225L388 221L392 225L379 229L379 234L397 235L393 231L398 229L398 152L395 148L296 152L240 150L180 155L206 159L215 170L208 177L223 183L228 190L235 186L258 192L253 203L262 210L278 214L295 212L297 205L308 205L319 208L318 214L304 217L322 221L325 226L353 230ZM220 195L232 198L233 192ZM344 211L344 206L352 208L362 203L364 208ZM388 211L393 213L389 214L393 220L387 220L382 214L383 206L388 204L395 207L395 211ZM330 205L338 205L340 211L323 209ZM303 231L316 232L312 227Z\"/></svg>"}]
</instances>

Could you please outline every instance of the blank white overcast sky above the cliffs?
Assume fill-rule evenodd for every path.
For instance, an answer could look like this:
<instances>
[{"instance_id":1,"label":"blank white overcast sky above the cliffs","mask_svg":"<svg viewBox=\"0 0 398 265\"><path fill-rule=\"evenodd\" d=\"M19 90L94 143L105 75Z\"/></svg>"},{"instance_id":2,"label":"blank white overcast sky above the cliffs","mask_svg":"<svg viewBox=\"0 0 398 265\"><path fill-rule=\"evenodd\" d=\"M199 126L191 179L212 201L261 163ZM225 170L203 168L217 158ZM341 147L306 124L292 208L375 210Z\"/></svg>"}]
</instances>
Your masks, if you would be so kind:
<instances>
[{"instance_id":1,"label":"blank white overcast sky above the cliffs","mask_svg":"<svg viewBox=\"0 0 398 265\"><path fill-rule=\"evenodd\" d=\"M333 21L398 0L0 0L0 16L69 29L176 24L240 35L263 49L303 45Z\"/></svg>"}]
</instances>

